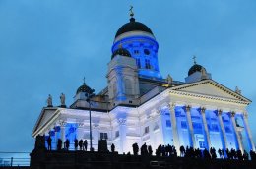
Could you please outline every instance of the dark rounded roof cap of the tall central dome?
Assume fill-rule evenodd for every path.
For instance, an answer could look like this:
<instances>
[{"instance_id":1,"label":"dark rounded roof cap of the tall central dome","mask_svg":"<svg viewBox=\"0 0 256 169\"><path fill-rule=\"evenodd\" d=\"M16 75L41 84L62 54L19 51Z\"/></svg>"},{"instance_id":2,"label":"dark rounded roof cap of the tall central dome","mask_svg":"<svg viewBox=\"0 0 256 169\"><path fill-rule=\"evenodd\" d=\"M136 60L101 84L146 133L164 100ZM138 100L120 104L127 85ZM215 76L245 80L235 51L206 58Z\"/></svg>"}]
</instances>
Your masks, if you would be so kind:
<instances>
[{"instance_id":1,"label":"dark rounded roof cap of the tall central dome","mask_svg":"<svg viewBox=\"0 0 256 169\"><path fill-rule=\"evenodd\" d=\"M118 35L121 35L125 32L129 32L129 31L145 31L148 33L151 33L153 35L153 32L150 28L148 28L146 25L140 23L140 22L136 22L134 18L130 19L129 23L126 23L125 25L123 25L121 28L118 29L118 31L115 34L115 37L117 37Z\"/></svg>"}]
</instances>

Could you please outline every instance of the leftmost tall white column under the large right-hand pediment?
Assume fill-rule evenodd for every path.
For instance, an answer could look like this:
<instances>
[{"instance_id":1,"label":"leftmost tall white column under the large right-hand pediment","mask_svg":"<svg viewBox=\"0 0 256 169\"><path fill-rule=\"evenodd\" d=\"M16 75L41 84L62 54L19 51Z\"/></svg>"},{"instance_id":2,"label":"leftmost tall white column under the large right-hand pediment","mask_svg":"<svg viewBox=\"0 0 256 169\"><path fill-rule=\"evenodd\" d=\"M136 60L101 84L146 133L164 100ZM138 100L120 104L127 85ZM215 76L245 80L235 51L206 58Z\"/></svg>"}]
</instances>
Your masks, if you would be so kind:
<instances>
[{"instance_id":1,"label":"leftmost tall white column under the large right-hand pediment","mask_svg":"<svg viewBox=\"0 0 256 169\"><path fill-rule=\"evenodd\" d=\"M173 136L173 144L178 152L179 152L179 137L178 137L178 131L177 131L177 121L176 121L176 115L175 115L175 104L169 105L169 111L170 111L170 121L171 121L171 129L172 129L172 136Z\"/></svg>"}]
</instances>

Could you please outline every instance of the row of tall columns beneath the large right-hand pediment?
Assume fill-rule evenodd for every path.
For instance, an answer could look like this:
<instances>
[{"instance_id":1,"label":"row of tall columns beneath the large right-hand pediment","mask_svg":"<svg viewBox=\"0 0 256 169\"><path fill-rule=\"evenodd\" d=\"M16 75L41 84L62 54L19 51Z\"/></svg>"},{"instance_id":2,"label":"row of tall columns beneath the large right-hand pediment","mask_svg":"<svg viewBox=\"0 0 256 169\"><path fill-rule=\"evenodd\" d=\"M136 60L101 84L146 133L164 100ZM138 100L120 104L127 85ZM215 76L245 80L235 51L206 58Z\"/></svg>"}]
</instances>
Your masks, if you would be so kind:
<instances>
[{"instance_id":1,"label":"row of tall columns beneath the large right-hand pediment","mask_svg":"<svg viewBox=\"0 0 256 169\"><path fill-rule=\"evenodd\" d=\"M177 119L176 119L176 115L175 115L175 104L169 104L168 108L169 108L169 112L170 112L170 121L171 121L171 126L172 126L171 132L172 132L172 136L173 136L173 144L176 147L180 147L180 141L179 141L178 130L177 130L178 127L177 127L177 123L176 123ZM201 107L199 112L201 114L201 118L202 118L202 122L203 122L205 141L207 142L207 148L209 149L210 147L212 147L212 144L211 144L211 139L210 139L210 132L209 132L208 125L207 125L206 108ZM224 121L222 118L222 115L224 114L224 112L220 109L217 110L217 112L218 112L217 113L218 123L220 124L220 128L221 128L220 136L223 141L223 148L225 149L225 148L228 148L228 143L227 143L226 132L225 132L225 128L224 128ZM188 124L188 133L189 133L190 144L193 148L196 148L195 135L194 135L192 118L191 118L191 106L189 106L189 105L185 106L185 113L186 113L186 120L187 120L187 124ZM233 128L234 136L235 136L235 141L237 141L236 148L240 149L243 152L242 141L241 141L241 138L237 131L237 124L235 122L236 114L238 114L238 113L235 113L234 111L231 111L230 113L228 113L228 115L230 117L231 125ZM255 151L255 146L252 141L252 134L251 134L251 131L250 131L250 128L248 125L248 114L247 114L247 112L239 113L239 116L241 116L242 121L243 121L244 130L245 130L248 142L249 142L249 147L251 150Z\"/></svg>"}]
</instances>

